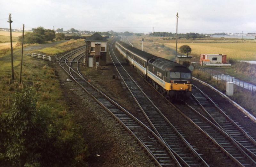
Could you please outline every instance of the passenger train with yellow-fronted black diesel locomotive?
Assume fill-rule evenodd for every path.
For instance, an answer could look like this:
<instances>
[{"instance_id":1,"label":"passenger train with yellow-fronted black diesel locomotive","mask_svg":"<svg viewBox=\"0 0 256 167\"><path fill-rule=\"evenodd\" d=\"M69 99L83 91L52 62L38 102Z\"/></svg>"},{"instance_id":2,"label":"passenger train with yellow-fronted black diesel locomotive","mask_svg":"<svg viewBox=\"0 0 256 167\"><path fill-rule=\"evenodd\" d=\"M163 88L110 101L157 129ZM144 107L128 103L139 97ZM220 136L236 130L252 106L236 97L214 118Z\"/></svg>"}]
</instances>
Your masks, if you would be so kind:
<instances>
[{"instance_id":1,"label":"passenger train with yellow-fronted black diesel locomotive","mask_svg":"<svg viewBox=\"0 0 256 167\"><path fill-rule=\"evenodd\" d=\"M191 71L176 62L157 57L122 41L116 49L167 100L186 100L191 95Z\"/></svg>"}]
</instances>

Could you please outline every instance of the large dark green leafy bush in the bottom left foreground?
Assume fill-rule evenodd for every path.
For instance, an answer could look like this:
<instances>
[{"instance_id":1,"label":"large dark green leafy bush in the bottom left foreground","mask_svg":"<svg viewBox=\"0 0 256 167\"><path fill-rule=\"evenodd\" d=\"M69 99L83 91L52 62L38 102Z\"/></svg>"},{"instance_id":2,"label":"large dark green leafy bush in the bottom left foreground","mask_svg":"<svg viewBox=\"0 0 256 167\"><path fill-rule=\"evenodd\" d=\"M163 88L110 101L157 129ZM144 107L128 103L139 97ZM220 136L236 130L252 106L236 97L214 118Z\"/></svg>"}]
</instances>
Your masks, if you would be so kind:
<instances>
[{"instance_id":1,"label":"large dark green leafy bush in the bottom left foreground","mask_svg":"<svg viewBox=\"0 0 256 167\"><path fill-rule=\"evenodd\" d=\"M12 109L0 115L0 164L81 166L88 156L79 125L60 122L39 106L31 88L16 93Z\"/></svg>"}]
</instances>

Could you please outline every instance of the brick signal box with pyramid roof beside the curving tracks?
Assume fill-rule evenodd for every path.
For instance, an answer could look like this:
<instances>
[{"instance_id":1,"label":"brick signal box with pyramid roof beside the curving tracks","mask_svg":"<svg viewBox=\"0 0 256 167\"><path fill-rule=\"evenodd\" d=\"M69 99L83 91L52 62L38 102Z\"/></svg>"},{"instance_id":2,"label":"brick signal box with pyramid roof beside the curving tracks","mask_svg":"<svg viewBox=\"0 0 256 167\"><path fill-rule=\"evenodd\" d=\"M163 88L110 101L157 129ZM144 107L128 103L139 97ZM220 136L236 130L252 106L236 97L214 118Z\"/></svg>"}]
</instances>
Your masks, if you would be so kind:
<instances>
[{"instance_id":1,"label":"brick signal box with pyramid roof beside the curving tracks","mask_svg":"<svg viewBox=\"0 0 256 167\"><path fill-rule=\"evenodd\" d=\"M107 42L100 34L94 33L84 40L86 42L86 67L107 64Z\"/></svg>"}]
</instances>

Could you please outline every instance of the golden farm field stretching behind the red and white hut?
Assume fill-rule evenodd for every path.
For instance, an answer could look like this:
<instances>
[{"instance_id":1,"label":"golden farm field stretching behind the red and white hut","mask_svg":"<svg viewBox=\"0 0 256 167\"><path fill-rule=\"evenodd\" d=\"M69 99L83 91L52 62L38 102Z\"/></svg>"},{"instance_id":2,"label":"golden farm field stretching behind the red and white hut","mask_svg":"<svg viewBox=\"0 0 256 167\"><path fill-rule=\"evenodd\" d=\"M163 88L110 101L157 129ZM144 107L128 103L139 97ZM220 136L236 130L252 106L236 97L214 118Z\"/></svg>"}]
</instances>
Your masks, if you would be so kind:
<instances>
[{"instance_id":1,"label":"golden farm field stretching behind the red and white hut","mask_svg":"<svg viewBox=\"0 0 256 167\"><path fill-rule=\"evenodd\" d=\"M144 38L145 51L156 56L165 58L175 56L175 39L154 37L152 42L152 36L149 35L127 36L127 38L138 49L141 49L141 39ZM163 40L164 38L167 40ZM242 43L242 40L224 38L178 39L178 52L181 45L189 45L192 49L191 55L194 57L199 57L200 54L227 54L228 58L236 60L256 60L256 42L254 40L244 40ZM166 55L164 50L172 50L172 52Z\"/></svg>"}]
</instances>

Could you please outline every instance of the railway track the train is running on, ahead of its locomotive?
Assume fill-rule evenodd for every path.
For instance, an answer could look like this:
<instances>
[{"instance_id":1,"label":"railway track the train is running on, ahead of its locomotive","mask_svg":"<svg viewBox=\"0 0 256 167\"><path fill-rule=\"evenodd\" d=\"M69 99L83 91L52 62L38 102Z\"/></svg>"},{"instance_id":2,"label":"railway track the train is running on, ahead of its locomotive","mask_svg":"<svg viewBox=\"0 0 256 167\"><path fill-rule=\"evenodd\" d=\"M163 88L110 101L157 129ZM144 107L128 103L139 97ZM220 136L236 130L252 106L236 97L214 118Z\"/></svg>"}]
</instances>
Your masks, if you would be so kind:
<instances>
[{"instance_id":1,"label":"railway track the train is running on, ahead of its locomotive","mask_svg":"<svg viewBox=\"0 0 256 167\"><path fill-rule=\"evenodd\" d=\"M187 120L195 125L196 128L199 129L206 137L212 140L212 142L217 145L218 148L229 158L231 158L238 166L256 166L254 154L252 154L254 149L252 147L248 147L251 148L251 151L245 150L244 147L237 143L237 141L233 140L233 138L229 136L226 131L213 124L209 119L205 118L202 114L200 114L188 104L184 105L189 107L188 110L184 110L184 107L177 107L177 105L175 106L171 102L169 103L174 108L176 108L176 110L178 110ZM247 141L241 139L241 143L247 143Z\"/></svg>"}]
</instances>

